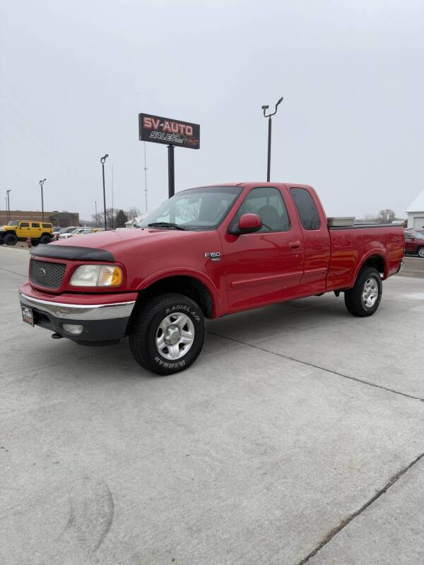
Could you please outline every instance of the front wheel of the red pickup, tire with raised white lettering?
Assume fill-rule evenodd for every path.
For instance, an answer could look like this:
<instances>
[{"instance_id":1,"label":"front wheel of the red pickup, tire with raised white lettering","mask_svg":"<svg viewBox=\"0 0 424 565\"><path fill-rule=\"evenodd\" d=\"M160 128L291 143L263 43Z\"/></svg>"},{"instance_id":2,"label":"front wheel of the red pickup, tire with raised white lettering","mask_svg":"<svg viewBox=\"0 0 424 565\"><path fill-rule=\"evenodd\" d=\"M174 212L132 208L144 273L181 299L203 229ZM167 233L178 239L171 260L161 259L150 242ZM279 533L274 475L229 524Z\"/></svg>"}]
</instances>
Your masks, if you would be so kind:
<instances>
[{"instance_id":1,"label":"front wheel of the red pickup, tire with raised white lettering","mask_svg":"<svg viewBox=\"0 0 424 565\"><path fill-rule=\"evenodd\" d=\"M204 316L196 302L184 295L165 294L134 312L129 347L141 367L169 375L184 371L197 359L204 336Z\"/></svg>"}]
</instances>

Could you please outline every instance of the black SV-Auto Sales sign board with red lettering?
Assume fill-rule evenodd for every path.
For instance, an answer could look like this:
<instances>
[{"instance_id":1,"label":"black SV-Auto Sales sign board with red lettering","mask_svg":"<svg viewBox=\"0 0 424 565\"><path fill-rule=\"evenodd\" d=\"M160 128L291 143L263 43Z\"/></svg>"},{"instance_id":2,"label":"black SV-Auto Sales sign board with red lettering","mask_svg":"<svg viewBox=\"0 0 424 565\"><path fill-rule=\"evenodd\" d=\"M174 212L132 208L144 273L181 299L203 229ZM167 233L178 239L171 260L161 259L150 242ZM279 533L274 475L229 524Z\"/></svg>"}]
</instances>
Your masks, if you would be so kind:
<instances>
[{"instance_id":1,"label":"black SV-Auto Sales sign board with red lettering","mask_svg":"<svg viewBox=\"0 0 424 565\"><path fill-rule=\"evenodd\" d=\"M140 141L199 149L200 126L189 121L139 114L139 138Z\"/></svg>"}]
</instances>

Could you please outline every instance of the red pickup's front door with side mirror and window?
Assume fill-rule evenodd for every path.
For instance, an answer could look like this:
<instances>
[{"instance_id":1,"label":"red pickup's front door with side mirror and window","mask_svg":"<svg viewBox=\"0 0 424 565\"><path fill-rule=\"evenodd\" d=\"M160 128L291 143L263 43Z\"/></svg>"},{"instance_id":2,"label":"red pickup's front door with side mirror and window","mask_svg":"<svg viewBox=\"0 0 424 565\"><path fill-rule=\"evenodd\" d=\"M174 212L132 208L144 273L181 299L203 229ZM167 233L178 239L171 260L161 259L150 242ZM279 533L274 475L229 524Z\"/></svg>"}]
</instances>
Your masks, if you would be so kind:
<instances>
[{"instance_id":1,"label":"red pickup's front door with side mirror and window","mask_svg":"<svg viewBox=\"0 0 424 565\"><path fill-rule=\"evenodd\" d=\"M246 213L260 216L259 232L223 237L223 263L230 311L281 302L297 295L303 273L302 234L284 192L254 186L230 222ZM287 198L287 197L286 197Z\"/></svg>"}]
</instances>

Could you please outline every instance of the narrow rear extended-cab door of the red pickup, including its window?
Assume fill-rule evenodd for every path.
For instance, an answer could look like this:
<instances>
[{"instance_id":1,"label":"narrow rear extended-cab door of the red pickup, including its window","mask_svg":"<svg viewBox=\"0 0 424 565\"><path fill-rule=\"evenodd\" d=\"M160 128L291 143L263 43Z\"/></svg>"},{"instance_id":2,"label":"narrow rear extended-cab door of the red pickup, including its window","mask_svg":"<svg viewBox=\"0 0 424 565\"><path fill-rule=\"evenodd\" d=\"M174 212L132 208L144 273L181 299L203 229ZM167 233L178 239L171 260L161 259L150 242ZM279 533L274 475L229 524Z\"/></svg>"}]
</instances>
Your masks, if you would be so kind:
<instances>
[{"instance_id":1,"label":"narrow rear extended-cab door of the red pickup, including its window","mask_svg":"<svg viewBox=\"0 0 424 565\"><path fill-rule=\"evenodd\" d=\"M330 234L326 216L314 189L291 186L305 252L305 268L300 280L301 295L317 295L326 290L326 275L330 263Z\"/></svg>"}]
</instances>

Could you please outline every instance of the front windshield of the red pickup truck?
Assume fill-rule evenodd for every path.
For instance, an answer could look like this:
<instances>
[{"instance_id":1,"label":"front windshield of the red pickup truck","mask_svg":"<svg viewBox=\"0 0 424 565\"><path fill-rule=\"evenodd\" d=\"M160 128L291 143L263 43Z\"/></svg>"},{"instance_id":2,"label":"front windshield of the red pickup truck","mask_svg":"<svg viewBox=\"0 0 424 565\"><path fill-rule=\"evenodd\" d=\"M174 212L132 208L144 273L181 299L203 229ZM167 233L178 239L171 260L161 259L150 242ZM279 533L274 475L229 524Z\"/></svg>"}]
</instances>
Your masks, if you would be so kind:
<instances>
[{"instance_id":1,"label":"front windshield of the red pickup truck","mask_svg":"<svg viewBox=\"0 0 424 565\"><path fill-rule=\"evenodd\" d=\"M151 227L215 230L231 210L242 189L242 186L204 186L178 192L139 222L139 227L157 224Z\"/></svg>"}]
</instances>

